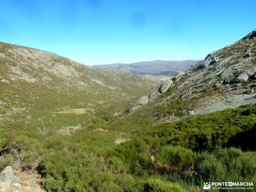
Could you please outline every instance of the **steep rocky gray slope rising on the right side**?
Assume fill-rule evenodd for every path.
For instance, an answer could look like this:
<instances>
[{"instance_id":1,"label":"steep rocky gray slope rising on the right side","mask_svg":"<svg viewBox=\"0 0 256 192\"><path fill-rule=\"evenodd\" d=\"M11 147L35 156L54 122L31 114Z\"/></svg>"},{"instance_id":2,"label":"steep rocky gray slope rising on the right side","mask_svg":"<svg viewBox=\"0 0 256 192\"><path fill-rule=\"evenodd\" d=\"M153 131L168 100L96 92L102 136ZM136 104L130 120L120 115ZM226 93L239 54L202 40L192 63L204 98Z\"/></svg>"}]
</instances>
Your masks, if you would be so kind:
<instances>
[{"instance_id":1,"label":"steep rocky gray slope rising on the right side","mask_svg":"<svg viewBox=\"0 0 256 192\"><path fill-rule=\"evenodd\" d=\"M256 31L252 31L207 55L175 76L168 92L144 108L149 108L150 116L157 120L168 121L256 103L255 36Z\"/></svg>"}]
</instances>

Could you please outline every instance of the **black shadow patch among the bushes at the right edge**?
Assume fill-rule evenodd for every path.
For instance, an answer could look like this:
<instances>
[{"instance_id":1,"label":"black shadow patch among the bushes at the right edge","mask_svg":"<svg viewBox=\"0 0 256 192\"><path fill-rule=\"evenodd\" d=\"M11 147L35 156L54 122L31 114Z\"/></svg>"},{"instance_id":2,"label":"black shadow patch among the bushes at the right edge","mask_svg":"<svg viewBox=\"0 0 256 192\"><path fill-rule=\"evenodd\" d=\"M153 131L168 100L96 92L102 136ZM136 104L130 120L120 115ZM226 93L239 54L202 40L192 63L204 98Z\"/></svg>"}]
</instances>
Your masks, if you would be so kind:
<instances>
[{"instance_id":1,"label":"black shadow patch among the bushes at the right edge","mask_svg":"<svg viewBox=\"0 0 256 192\"><path fill-rule=\"evenodd\" d=\"M239 132L230 138L227 147L237 147L241 150L256 150L256 127L248 131Z\"/></svg>"}]
</instances>

